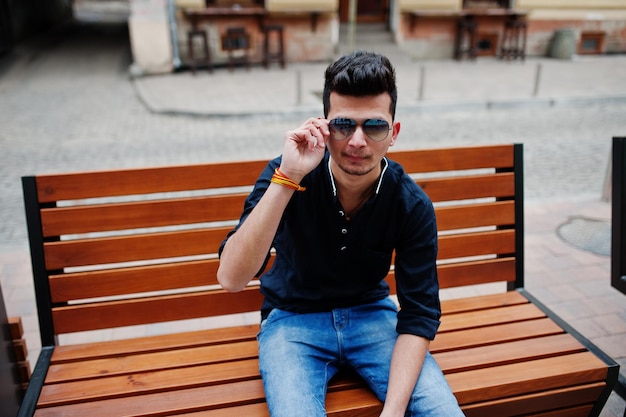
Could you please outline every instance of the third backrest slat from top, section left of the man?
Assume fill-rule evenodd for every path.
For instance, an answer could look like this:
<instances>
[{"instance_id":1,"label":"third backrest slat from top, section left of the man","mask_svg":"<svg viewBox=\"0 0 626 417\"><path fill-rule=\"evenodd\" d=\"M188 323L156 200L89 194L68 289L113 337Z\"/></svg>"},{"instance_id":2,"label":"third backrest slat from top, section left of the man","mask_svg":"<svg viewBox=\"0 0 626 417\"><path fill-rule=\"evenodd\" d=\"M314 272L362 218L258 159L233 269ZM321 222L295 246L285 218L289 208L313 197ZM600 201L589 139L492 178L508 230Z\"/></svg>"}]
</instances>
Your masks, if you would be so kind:
<instances>
[{"instance_id":1,"label":"third backrest slat from top, section left of the man","mask_svg":"<svg viewBox=\"0 0 626 417\"><path fill-rule=\"evenodd\" d=\"M75 266L214 254L230 230L232 227L48 242L44 245L46 268L54 271Z\"/></svg>"}]
</instances>

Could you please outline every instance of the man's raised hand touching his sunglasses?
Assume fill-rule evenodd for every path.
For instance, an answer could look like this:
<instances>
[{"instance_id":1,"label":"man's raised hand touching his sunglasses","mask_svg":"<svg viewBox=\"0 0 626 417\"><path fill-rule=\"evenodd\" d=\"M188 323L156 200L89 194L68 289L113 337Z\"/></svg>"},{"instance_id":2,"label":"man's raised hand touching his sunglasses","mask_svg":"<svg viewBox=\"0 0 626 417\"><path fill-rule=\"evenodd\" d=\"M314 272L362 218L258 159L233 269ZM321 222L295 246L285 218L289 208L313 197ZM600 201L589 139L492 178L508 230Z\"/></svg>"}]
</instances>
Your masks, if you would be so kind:
<instances>
[{"instance_id":1,"label":"man's raised hand touching his sunglasses","mask_svg":"<svg viewBox=\"0 0 626 417\"><path fill-rule=\"evenodd\" d=\"M280 170L300 182L324 157L329 135L328 120L322 118L310 118L297 129L287 132Z\"/></svg>"}]
</instances>

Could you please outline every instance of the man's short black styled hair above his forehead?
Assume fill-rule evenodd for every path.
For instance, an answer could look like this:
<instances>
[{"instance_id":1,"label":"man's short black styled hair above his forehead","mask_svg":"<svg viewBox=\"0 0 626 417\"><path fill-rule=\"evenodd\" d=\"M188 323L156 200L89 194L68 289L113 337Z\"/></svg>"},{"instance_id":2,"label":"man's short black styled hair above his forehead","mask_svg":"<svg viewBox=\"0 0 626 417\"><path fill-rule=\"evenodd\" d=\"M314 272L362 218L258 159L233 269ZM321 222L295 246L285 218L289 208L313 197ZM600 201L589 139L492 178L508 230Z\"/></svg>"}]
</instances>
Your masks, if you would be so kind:
<instances>
[{"instance_id":1,"label":"man's short black styled hair above his forehead","mask_svg":"<svg viewBox=\"0 0 626 417\"><path fill-rule=\"evenodd\" d=\"M389 93L392 118L396 115L398 90L396 72L387 57L365 51L345 55L332 63L324 74L324 116L330 111L330 93L353 97L374 96Z\"/></svg>"}]
</instances>

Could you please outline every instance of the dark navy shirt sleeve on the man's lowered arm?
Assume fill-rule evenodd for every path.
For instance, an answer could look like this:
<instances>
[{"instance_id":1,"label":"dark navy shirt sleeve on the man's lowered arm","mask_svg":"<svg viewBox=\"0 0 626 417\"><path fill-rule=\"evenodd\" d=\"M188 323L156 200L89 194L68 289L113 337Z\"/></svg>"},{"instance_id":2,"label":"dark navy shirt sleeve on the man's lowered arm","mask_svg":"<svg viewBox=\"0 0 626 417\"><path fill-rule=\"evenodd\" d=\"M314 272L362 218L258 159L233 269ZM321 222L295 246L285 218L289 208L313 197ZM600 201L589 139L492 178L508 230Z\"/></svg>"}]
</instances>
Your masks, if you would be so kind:
<instances>
[{"instance_id":1,"label":"dark navy shirt sleeve on the man's lowered arm","mask_svg":"<svg viewBox=\"0 0 626 417\"><path fill-rule=\"evenodd\" d=\"M397 331L433 340L441 318L435 211L423 192L406 209L396 246Z\"/></svg>"}]
</instances>

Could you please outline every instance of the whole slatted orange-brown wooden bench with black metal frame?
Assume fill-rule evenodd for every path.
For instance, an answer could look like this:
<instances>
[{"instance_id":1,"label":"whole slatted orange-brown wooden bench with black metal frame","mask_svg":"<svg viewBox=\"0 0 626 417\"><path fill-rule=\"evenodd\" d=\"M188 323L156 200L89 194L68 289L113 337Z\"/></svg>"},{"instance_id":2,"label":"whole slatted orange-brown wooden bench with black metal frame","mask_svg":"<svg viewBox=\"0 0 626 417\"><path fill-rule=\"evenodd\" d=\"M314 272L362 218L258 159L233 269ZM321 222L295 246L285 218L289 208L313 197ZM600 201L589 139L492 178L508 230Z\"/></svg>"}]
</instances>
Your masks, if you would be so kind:
<instances>
[{"instance_id":1,"label":"whole slatted orange-brown wooden bench with black metal frame","mask_svg":"<svg viewBox=\"0 0 626 417\"><path fill-rule=\"evenodd\" d=\"M522 146L389 156L436 204L443 291L471 295L443 302L431 345L466 415L597 416L619 366L524 289ZM268 415L258 287L227 293L215 278L218 246L265 164L23 178L43 349L19 416ZM252 324L236 325L246 312ZM161 335L131 327L137 337L63 343L165 322L148 330ZM327 407L377 416L381 404L346 374Z\"/></svg>"}]
</instances>

